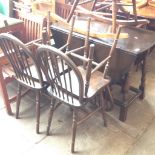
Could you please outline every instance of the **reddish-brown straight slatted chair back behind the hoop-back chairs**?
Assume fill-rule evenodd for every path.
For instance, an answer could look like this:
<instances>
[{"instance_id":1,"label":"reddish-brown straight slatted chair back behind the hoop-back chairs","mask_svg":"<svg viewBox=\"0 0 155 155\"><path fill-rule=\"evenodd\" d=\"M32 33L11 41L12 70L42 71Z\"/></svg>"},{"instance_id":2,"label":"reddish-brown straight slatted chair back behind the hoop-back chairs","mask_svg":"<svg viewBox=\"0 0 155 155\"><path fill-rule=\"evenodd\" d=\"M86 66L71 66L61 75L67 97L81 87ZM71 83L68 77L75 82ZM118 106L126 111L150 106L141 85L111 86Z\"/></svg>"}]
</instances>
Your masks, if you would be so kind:
<instances>
[{"instance_id":1,"label":"reddish-brown straight slatted chair back behind the hoop-back chairs","mask_svg":"<svg viewBox=\"0 0 155 155\"><path fill-rule=\"evenodd\" d=\"M18 12L18 18L24 22L23 36L21 38L24 43L42 38L43 27L47 26L45 17Z\"/></svg>"}]
</instances>

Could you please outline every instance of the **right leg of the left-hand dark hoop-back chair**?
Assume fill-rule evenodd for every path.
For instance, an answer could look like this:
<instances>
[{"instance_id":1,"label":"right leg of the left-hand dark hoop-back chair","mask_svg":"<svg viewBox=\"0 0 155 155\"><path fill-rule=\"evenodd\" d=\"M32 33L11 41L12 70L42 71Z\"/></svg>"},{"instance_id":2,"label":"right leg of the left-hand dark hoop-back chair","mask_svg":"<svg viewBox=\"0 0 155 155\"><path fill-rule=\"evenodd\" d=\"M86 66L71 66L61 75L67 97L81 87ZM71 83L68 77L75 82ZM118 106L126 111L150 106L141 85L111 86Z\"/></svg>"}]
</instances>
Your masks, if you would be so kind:
<instances>
[{"instance_id":1,"label":"right leg of the left-hand dark hoop-back chair","mask_svg":"<svg viewBox=\"0 0 155 155\"><path fill-rule=\"evenodd\" d=\"M39 134L40 126L40 91L36 92L36 133Z\"/></svg>"}]
</instances>

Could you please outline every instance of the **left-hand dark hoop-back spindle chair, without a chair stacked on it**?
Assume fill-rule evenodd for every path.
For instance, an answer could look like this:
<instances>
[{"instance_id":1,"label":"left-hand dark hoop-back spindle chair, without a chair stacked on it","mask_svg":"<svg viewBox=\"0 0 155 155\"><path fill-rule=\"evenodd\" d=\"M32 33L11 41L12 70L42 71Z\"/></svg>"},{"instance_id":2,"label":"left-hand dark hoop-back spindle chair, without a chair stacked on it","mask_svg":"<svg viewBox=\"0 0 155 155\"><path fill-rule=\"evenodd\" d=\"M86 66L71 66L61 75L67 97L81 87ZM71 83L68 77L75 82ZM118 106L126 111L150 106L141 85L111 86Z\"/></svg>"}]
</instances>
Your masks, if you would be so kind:
<instances>
[{"instance_id":1,"label":"left-hand dark hoop-back spindle chair, without a chair stacked on it","mask_svg":"<svg viewBox=\"0 0 155 155\"><path fill-rule=\"evenodd\" d=\"M31 51L23 44L19 39L11 34L1 33L0 34L0 47L9 61L9 65L6 66L9 74L12 75L11 78L7 76L3 77L1 71L1 87L4 94L4 98L8 99L8 94L6 91L6 85L12 79L15 79L18 83L17 92L17 106L16 106L16 118L19 117L19 107L20 100L23 95L25 95L28 90L33 90L36 93L36 132L39 133L39 119L40 119L40 93L45 88L44 82L40 70L38 68L38 63L35 57L32 55ZM10 73L10 68L11 73ZM5 68L1 68L5 70ZM5 70L6 71L6 70ZM4 83L2 83L4 82ZM24 93L22 93L22 88L27 88ZM4 89L3 89L4 88ZM5 96L6 95L6 96Z\"/></svg>"}]
</instances>

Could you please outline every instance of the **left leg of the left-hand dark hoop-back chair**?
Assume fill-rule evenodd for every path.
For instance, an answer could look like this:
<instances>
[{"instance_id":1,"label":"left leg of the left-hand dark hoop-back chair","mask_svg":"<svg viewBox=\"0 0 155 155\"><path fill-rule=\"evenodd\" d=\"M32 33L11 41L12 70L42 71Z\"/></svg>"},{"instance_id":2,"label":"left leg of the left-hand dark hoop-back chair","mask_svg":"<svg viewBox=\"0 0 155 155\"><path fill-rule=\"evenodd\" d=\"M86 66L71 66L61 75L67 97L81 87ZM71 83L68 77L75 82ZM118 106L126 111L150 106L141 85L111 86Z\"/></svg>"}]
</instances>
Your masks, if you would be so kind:
<instances>
[{"instance_id":1,"label":"left leg of the left-hand dark hoop-back chair","mask_svg":"<svg viewBox=\"0 0 155 155\"><path fill-rule=\"evenodd\" d=\"M17 102L16 102L16 119L19 118L19 108L20 108L20 101L21 101L21 91L22 91L22 86L18 83Z\"/></svg>"}]
</instances>

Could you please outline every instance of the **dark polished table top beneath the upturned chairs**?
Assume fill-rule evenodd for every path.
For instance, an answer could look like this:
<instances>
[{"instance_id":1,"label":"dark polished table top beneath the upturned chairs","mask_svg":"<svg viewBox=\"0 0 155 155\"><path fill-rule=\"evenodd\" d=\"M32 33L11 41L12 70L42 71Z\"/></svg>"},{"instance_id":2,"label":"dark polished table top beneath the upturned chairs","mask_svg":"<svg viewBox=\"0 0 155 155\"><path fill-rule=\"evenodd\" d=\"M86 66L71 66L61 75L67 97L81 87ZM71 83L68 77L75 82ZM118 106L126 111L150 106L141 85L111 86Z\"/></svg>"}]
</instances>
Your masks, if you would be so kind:
<instances>
[{"instance_id":1,"label":"dark polished table top beneath the upturned chairs","mask_svg":"<svg viewBox=\"0 0 155 155\"><path fill-rule=\"evenodd\" d=\"M81 19L81 18L77 18L75 21L75 28L79 28L79 29L86 29L86 22L85 19ZM109 32L109 29L111 28L111 26L109 24L103 24L102 22L97 22L97 21L91 21L91 25L90 25L90 33L91 32L96 32L96 33L107 33ZM59 39L59 35L62 33L66 33L68 32L68 30L66 30L66 28L63 28L63 25L52 25L51 26L52 32L54 34L54 39L56 40L56 45L61 47L63 44L63 40L62 41L58 41ZM56 36L56 32L58 31L58 36ZM148 48L150 48L151 46L154 45L155 43L155 36L152 35L152 33L154 34L154 32L149 31L149 30L145 30L145 29L141 29L141 28L136 28L136 27L123 27L121 29L121 32L123 33L127 33L128 34L128 38L125 39L119 39L118 41L118 45L117 48L124 51L125 53L127 53L128 55L140 55L143 52L145 52ZM60 34L59 34L60 33ZM79 33L75 33L75 36L78 36L78 38L82 39L84 38L84 35L79 34ZM141 39L143 38L143 39ZM113 39L107 39L107 38L90 38L90 41L94 41L97 44L101 44L103 45L103 43L105 45L111 45ZM76 44L75 44L76 45Z\"/></svg>"}]
</instances>

